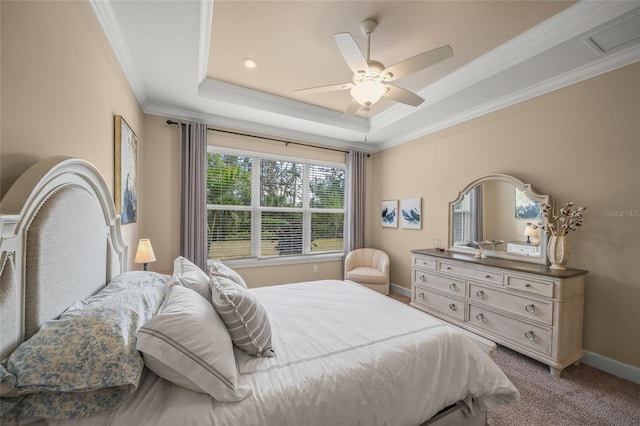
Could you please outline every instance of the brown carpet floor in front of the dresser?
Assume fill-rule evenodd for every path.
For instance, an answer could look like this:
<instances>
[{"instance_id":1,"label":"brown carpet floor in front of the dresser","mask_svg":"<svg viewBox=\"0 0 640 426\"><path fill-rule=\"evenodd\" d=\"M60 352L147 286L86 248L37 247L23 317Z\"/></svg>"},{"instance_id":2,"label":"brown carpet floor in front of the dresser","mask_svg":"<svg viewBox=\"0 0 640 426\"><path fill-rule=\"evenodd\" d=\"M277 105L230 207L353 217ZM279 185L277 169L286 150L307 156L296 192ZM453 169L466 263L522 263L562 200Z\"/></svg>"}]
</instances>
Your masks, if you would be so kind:
<instances>
[{"instance_id":1,"label":"brown carpet floor in front of the dresser","mask_svg":"<svg viewBox=\"0 0 640 426\"><path fill-rule=\"evenodd\" d=\"M591 366L549 367L498 346L494 357L520 391L520 401L489 413L491 426L640 425L640 385Z\"/></svg>"}]
</instances>

